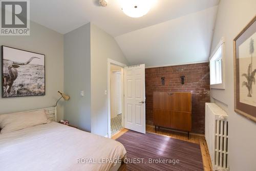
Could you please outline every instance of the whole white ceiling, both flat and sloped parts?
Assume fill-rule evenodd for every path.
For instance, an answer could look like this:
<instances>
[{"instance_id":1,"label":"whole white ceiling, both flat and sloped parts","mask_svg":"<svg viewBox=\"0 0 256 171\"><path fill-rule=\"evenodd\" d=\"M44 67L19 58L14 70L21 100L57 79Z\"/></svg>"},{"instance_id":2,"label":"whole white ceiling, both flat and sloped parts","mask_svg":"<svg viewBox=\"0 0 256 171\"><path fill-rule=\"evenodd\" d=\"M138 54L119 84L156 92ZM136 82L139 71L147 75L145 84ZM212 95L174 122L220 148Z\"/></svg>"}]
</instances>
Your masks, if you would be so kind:
<instances>
[{"instance_id":1,"label":"whole white ceiling, both flat and sloped parts","mask_svg":"<svg viewBox=\"0 0 256 171\"><path fill-rule=\"evenodd\" d=\"M129 0L127 0L129 1ZM89 22L116 38L131 64L147 67L207 60L219 0L157 0L143 17L126 16L119 0L30 1L31 20L59 33Z\"/></svg>"}]
</instances>

